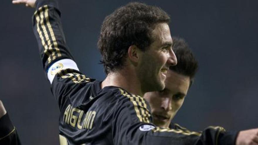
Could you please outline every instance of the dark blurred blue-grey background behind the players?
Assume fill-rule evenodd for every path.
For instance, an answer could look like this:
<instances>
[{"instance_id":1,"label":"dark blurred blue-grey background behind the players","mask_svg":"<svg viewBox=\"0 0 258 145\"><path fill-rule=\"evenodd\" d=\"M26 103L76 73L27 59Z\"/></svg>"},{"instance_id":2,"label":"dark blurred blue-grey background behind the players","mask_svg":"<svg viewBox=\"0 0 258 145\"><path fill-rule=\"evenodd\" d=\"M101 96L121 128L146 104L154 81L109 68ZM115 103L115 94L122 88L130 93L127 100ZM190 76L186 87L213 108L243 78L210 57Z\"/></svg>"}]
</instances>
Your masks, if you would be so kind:
<instances>
[{"instance_id":1,"label":"dark blurred blue-grey background behind the players","mask_svg":"<svg viewBox=\"0 0 258 145\"><path fill-rule=\"evenodd\" d=\"M67 44L79 69L102 80L97 40L104 17L129 1L59 1ZM258 127L258 1L149 0L171 16L200 65L174 122L191 130ZM59 144L59 109L43 73L32 8L0 1L0 99L23 144Z\"/></svg>"}]
</instances>

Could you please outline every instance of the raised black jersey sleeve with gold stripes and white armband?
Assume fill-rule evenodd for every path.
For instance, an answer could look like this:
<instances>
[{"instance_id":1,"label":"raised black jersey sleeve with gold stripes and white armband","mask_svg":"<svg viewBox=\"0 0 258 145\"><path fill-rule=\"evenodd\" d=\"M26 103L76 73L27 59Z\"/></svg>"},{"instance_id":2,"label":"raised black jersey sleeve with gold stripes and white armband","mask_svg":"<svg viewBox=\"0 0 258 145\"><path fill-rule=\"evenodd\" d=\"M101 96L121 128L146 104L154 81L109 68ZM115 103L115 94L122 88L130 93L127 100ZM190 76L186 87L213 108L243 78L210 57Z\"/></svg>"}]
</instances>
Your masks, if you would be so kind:
<instances>
[{"instance_id":1,"label":"raised black jersey sleeve with gold stripes and white armband","mask_svg":"<svg viewBox=\"0 0 258 145\"><path fill-rule=\"evenodd\" d=\"M61 109L69 94L94 79L79 71L66 44L60 15L55 0L37 0L32 19L43 68Z\"/></svg>"}]
</instances>

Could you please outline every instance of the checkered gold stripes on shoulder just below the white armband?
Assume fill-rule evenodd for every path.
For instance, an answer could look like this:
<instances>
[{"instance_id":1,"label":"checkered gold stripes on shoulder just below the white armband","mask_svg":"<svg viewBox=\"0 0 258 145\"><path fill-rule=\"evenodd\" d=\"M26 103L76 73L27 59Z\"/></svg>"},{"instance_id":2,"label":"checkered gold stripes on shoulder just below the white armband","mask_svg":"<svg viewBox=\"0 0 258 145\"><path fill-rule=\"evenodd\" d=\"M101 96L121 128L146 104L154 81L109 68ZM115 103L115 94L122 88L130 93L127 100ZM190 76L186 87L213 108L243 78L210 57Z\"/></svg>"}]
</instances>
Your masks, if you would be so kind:
<instances>
[{"instance_id":1,"label":"checkered gold stripes on shoulder just below the white armband","mask_svg":"<svg viewBox=\"0 0 258 145\"><path fill-rule=\"evenodd\" d=\"M61 78L63 79L69 78L74 83L83 83L83 82L88 83L91 81L90 78L86 78L85 75L72 72L72 69L63 69L61 71L58 71L57 73Z\"/></svg>"}]
</instances>

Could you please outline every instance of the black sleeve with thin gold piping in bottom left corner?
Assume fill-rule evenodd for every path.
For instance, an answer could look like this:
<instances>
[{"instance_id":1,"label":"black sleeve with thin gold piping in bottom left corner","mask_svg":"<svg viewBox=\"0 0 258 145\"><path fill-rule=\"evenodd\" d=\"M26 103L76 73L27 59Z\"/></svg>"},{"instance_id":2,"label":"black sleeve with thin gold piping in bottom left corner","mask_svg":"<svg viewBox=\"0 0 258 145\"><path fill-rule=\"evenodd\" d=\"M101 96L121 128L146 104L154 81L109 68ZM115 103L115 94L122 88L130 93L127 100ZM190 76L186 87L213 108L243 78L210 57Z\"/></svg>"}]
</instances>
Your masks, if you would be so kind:
<instances>
[{"instance_id":1,"label":"black sleeve with thin gold piping in bottom left corner","mask_svg":"<svg viewBox=\"0 0 258 145\"><path fill-rule=\"evenodd\" d=\"M16 128L13 126L8 113L0 118L0 144L20 145Z\"/></svg>"}]
</instances>

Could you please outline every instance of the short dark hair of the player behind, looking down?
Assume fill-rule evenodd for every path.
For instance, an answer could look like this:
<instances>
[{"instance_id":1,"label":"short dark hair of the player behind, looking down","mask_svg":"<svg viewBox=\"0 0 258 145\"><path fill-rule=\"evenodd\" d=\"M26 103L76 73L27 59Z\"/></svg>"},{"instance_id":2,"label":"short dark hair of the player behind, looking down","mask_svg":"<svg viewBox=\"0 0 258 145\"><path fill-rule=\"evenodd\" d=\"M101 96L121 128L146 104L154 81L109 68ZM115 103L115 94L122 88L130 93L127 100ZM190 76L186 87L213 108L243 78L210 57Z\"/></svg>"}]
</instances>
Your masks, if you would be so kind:
<instances>
[{"instance_id":1,"label":"short dark hair of the player behind, looking down","mask_svg":"<svg viewBox=\"0 0 258 145\"><path fill-rule=\"evenodd\" d=\"M189 76L191 86L198 70L198 61L193 56L193 52L183 38L172 37L172 40L172 49L176 55L177 64L175 66L170 66L169 69L178 74Z\"/></svg>"}]
</instances>

